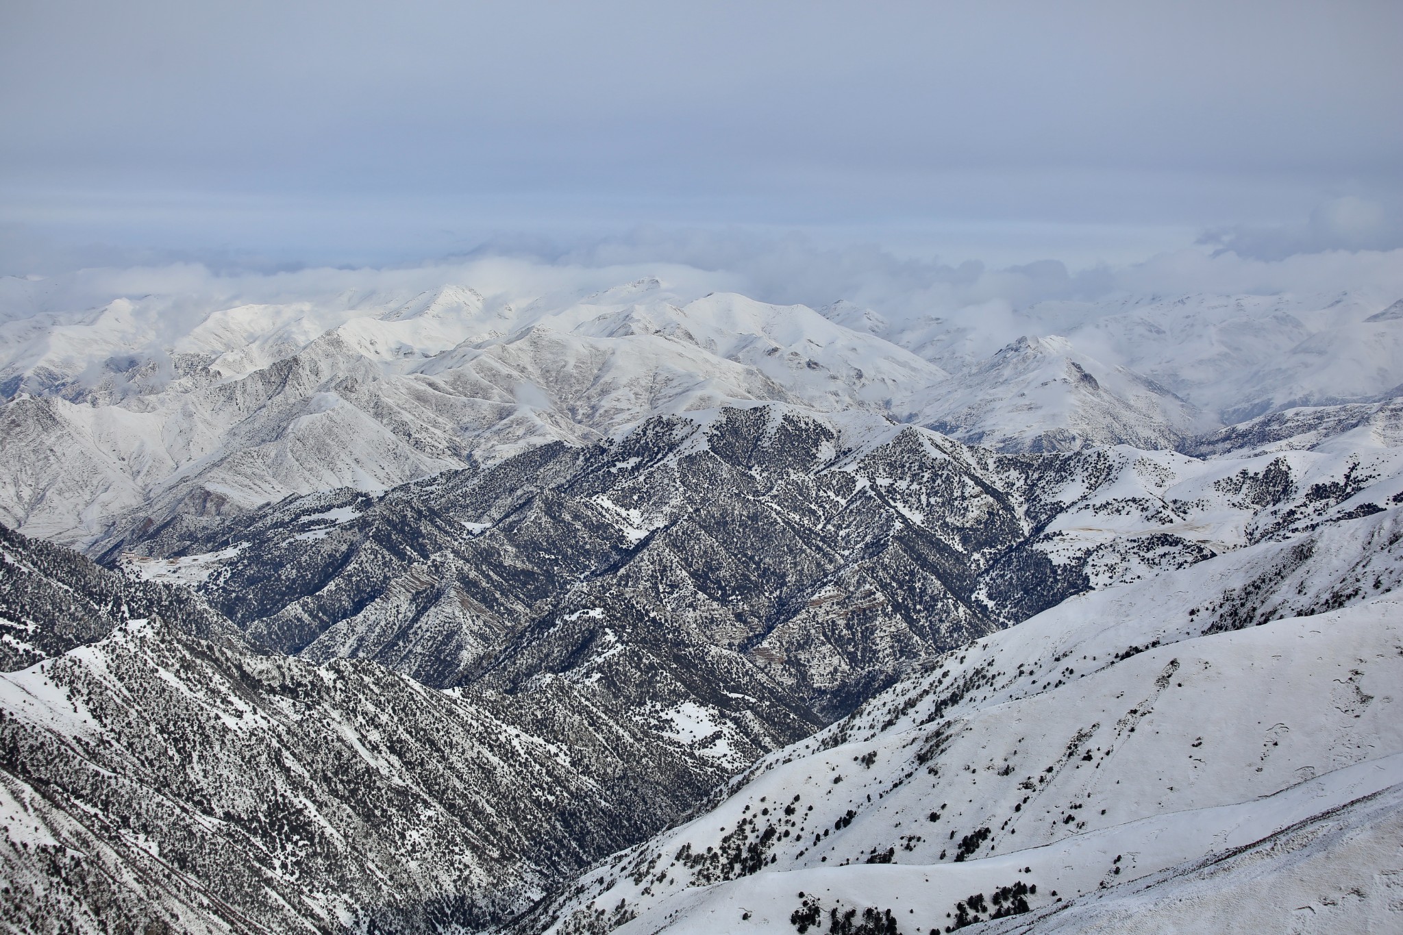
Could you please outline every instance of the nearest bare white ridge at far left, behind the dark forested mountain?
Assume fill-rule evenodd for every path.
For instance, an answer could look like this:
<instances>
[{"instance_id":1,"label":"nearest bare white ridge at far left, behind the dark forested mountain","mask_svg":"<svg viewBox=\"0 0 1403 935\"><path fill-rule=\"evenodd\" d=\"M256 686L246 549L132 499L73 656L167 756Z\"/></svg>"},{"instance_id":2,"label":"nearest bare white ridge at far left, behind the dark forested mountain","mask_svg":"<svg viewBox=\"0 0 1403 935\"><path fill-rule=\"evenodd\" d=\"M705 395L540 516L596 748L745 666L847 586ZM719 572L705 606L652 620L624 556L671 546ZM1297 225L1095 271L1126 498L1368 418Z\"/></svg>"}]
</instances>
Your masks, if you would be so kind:
<instances>
[{"instance_id":1,"label":"nearest bare white ridge at far left, behind the dark forested mountain","mask_svg":"<svg viewBox=\"0 0 1403 935\"><path fill-rule=\"evenodd\" d=\"M21 395L0 411L14 453L0 519L81 542L137 509L224 514L289 491L384 489L463 464L441 402L396 393L334 338L240 380L201 370L126 405Z\"/></svg>"}]
</instances>

